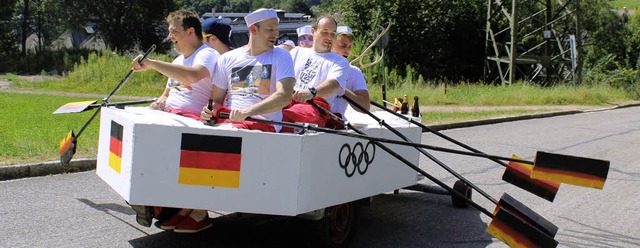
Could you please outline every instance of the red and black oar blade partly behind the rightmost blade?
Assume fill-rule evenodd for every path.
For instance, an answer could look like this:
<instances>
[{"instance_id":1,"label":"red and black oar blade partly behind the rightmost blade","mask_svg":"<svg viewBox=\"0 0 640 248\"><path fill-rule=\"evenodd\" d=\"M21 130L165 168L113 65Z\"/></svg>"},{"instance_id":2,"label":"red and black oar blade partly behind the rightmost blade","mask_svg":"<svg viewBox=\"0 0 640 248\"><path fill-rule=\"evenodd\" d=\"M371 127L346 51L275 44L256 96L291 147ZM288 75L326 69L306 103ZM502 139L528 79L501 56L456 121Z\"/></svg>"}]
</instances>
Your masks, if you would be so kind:
<instances>
[{"instance_id":1,"label":"red and black oar blade partly behind the rightmost blade","mask_svg":"<svg viewBox=\"0 0 640 248\"><path fill-rule=\"evenodd\" d=\"M512 157L522 160L522 158L516 155ZM544 198L547 201L553 202L560 188L560 184L531 178L532 169L533 166L529 164L509 162L504 174L502 174L502 180Z\"/></svg>"}]
</instances>

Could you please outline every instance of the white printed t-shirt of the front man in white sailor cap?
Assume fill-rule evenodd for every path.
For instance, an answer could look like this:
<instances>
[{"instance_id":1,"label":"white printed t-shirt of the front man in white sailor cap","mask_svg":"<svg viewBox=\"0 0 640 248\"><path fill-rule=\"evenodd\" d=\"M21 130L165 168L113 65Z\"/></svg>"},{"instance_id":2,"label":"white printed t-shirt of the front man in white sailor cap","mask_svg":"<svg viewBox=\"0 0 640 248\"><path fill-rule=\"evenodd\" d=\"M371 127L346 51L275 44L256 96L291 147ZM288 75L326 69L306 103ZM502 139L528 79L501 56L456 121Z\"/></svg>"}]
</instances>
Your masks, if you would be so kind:
<instances>
[{"instance_id":1,"label":"white printed t-shirt of the front man in white sailor cap","mask_svg":"<svg viewBox=\"0 0 640 248\"><path fill-rule=\"evenodd\" d=\"M276 92L276 82L293 75L293 61L287 50L276 47L258 56L249 56L244 48L238 48L220 56L213 82L227 90L229 109L243 109ZM282 111L254 117L280 121Z\"/></svg>"}]
</instances>

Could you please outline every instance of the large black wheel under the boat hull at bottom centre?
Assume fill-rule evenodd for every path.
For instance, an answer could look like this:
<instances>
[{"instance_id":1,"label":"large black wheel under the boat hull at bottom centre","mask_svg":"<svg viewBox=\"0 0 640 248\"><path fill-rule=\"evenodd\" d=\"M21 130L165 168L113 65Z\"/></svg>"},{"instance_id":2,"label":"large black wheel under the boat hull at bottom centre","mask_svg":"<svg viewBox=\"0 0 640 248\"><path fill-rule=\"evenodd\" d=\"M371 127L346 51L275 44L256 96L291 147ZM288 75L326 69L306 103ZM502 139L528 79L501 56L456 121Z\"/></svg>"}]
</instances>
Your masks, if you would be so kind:
<instances>
[{"instance_id":1,"label":"large black wheel under the boat hull at bottom centre","mask_svg":"<svg viewBox=\"0 0 640 248\"><path fill-rule=\"evenodd\" d=\"M326 215L315 224L322 247L348 247L356 233L357 204L348 202L326 209Z\"/></svg>"}]
</instances>

